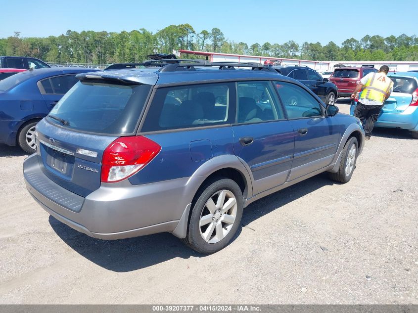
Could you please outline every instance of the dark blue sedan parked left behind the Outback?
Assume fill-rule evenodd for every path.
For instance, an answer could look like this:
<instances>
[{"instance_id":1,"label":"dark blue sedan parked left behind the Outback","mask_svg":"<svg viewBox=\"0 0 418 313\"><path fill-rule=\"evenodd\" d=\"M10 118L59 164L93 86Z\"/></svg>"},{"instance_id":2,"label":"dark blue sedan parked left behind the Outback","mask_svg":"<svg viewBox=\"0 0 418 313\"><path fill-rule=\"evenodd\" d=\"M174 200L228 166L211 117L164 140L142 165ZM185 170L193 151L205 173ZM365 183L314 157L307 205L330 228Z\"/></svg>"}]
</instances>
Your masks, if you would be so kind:
<instances>
[{"instance_id":1,"label":"dark blue sedan parked left behind the Outback","mask_svg":"<svg viewBox=\"0 0 418 313\"><path fill-rule=\"evenodd\" d=\"M87 68L43 68L25 71L0 82L0 144L18 144L35 152L35 125L77 83Z\"/></svg>"}]
</instances>

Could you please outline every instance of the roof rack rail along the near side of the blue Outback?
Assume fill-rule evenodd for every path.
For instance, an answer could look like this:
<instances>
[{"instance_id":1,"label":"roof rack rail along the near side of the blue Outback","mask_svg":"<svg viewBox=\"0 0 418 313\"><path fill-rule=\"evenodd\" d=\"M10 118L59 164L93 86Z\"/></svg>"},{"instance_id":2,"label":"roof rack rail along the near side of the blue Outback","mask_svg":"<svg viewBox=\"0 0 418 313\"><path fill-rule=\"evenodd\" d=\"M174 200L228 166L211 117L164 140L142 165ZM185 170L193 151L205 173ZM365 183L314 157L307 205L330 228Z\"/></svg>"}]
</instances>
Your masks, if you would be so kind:
<instances>
[{"instance_id":1,"label":"roof rack rail along the near side of the blue Outback","mask_svg":"<svg viewBox=\"0 0 418 313\"><path fill-rule=\"evenodd\" d=\"M277 73L272 67L254 62L195 62L195 63L174 63L162 66L159 72L194 71L195 66L212 67L218 66L220 70L235 70L235 67L248 67L253 71L268 71Z\"/></svg>"}]
</instances>

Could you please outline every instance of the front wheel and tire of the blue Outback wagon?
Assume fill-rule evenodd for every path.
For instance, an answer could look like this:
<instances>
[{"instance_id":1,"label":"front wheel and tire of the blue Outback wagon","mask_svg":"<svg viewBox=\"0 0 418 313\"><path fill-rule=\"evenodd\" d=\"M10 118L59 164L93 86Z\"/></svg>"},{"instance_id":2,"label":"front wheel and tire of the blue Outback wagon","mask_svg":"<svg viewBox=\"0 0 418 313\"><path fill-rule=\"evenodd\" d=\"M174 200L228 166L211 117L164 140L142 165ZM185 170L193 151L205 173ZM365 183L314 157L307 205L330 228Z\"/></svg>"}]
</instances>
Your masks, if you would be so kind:
<instances>
[{"instance_id":1,"label":"front wheel and tire of the blue Outback wagon","mask_svg":"<svg viewBox=\"0 0 418 313\"><path fill-rule=\"evenodd\" d=\"M356 137L351 137L344 146L341 152L341 161L337 173L329 173L329 178L346 183L350 181L356 168L356 161L358 156L359 144Z\"/></svg>"}]
</instances>

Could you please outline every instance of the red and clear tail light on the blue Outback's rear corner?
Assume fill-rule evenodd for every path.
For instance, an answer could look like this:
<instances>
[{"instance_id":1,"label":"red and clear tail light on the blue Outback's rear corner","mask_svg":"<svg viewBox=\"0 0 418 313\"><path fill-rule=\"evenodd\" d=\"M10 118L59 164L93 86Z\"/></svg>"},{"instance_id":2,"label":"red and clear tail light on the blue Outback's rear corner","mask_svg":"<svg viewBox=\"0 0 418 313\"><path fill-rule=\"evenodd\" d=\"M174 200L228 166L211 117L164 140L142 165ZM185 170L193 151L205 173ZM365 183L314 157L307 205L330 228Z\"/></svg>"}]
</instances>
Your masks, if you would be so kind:
<instances>
[{"instance_id":1,"label":"red and clear tail light on the blue Outback's rear corner","mask_svg":"<svg viewBox=\"0 0 418 313\"><path fill-rule=\"evenodd\" d=\"M161 151L143 136L119 137L103 152L101 182L118 182L138 173Z\"/></svg>"}]
</instances>

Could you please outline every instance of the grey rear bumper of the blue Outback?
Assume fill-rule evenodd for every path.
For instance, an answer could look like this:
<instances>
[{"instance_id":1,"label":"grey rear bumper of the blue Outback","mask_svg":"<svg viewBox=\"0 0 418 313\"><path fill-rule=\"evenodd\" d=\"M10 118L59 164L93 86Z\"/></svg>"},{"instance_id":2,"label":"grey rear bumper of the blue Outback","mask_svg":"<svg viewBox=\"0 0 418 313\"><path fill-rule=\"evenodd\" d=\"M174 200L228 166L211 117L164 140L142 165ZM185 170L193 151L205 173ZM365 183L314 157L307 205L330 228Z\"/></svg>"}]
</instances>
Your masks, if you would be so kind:
<instances>
[{"instance_id":1,"label":"grey rear bumper of the blue Outback","mask_svg":"<svg viewBox=\"0 0 418 313\"><path fill-rule=\"evenodd\" d=\"M36 154L23 165L32 197L57 220L94 238L111 240L173 232L188 204L182 197L188 179L135 186L128 180L112 186L102 184L83 198L48 179L41 166ZM44 180L37 185L31 175ZM62 195L67 199L60 198Z\"/></svg>"}]
</instances>

